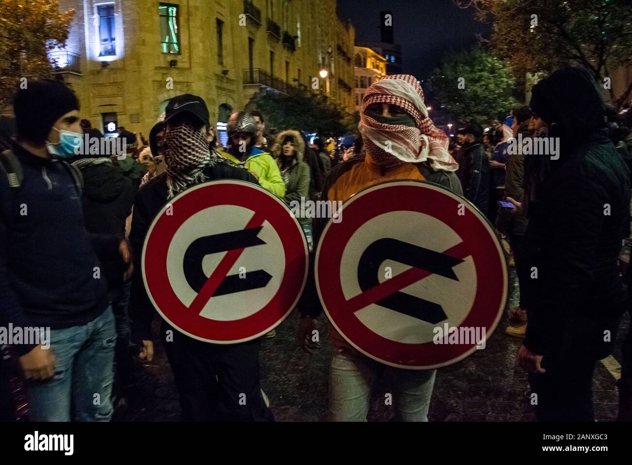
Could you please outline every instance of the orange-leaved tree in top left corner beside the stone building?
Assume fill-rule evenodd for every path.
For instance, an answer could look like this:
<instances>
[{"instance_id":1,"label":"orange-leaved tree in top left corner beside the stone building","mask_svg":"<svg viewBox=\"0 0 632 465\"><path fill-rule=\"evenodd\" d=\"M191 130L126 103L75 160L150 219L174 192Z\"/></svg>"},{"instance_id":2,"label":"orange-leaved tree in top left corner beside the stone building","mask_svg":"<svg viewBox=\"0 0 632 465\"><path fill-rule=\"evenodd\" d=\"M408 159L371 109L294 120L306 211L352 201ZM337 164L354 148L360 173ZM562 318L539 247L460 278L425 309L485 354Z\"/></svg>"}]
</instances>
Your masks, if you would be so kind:
<instances>
[{"instance_id":1,"label":"orange-leaved tree in top left corner beside the stone building","mask_svg":"<svg viewBox=\"0 0 632 465\"><path fill-rule=\"evenodd\" d=\"M50 77L49 52L64 47L75 10L59 11L59 0L0 1L0 107L21 78Z\"/></svg>"}]
</instances>

